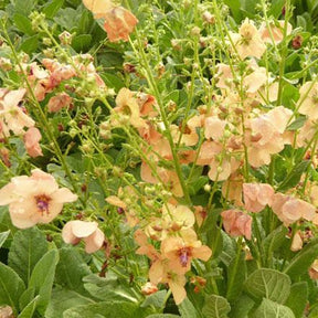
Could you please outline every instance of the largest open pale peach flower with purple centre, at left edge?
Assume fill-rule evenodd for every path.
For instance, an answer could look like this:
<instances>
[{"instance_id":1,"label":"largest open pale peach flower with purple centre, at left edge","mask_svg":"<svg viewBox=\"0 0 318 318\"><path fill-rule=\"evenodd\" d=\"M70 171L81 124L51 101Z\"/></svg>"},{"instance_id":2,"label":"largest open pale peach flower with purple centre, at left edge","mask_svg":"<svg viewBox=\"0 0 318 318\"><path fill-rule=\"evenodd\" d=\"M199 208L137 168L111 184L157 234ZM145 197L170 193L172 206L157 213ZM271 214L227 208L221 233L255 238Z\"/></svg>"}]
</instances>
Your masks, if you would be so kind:
<instances>
[{"instance_id":1,"label":"largest open pale peach flower with purple centre, at left edge","mask_svg":"<svg viewBox=\"0 0 318 318\"><path fill-rule=\"evenodd\" d=\"M51 222L63 209L63 203L77 200L68 189L40 169L31 177L20 176L0 189L0 205L9 204L11 221L19 229Z\"/></svg>"}]
</instances>

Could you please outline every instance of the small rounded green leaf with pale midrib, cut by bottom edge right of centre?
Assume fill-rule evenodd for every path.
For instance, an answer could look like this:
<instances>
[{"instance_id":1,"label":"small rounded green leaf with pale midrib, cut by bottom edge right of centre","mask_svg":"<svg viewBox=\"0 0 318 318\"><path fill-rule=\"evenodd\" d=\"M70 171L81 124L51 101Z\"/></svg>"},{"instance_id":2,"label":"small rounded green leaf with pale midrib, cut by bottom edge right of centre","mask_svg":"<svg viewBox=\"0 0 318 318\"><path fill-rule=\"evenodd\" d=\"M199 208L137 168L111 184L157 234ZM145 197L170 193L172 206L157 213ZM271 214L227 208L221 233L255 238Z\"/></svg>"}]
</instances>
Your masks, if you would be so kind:
<instances>
[{"instance_id":1,"label":"small rounded green leaf with pale midrib, cut by bottom edge right of centre","mask_svg":"<svg viewBox=\"0 0 318 318\"><path fill-rule=\"evenodd\" d=\"M225 298L210 295L205 297L202 314L205 318L227 318L230 310L231 306Z\"/></svg>"}]
</instances>

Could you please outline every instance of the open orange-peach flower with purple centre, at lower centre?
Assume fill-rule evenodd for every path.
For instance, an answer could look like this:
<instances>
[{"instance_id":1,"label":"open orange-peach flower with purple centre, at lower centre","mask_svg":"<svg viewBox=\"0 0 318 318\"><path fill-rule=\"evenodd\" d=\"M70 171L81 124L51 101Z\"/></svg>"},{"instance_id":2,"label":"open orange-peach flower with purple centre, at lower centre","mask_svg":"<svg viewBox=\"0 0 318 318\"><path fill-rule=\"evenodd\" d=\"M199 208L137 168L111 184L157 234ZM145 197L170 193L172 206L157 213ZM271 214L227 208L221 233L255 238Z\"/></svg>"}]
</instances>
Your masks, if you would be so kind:
<instances>
[{"instance_id":1,"label":"open orange-peach flower with purple centre, at lower centre","mask_svg":"<svg viewBox=\"0 0 318 318\"><path fill-rule=\"evenodd\" d=\"M192 229L180 231L180 236L165 239L160 250L162 256L169 259L170 268L182 274L190 271L193 258L206 262L212 255L211 248L202 245Z\"/></svg>"}]
</instances>

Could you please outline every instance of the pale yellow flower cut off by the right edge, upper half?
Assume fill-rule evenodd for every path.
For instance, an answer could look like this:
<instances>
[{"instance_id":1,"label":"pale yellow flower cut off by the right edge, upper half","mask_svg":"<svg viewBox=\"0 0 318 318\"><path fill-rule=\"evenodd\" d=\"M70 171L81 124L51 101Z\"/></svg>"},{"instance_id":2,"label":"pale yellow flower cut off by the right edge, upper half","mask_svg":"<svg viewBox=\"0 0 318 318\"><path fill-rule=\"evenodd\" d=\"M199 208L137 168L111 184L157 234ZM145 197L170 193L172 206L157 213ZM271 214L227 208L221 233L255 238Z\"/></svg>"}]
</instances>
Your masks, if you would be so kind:
<instances>
[{"instance_id":1,"label":"pale yellow flower cut off by the right edge, upper half","mask_svg":"<svg viewBox=\"0 0 318 318\"><path fill-rule=\"evenodd\" d=\"M311 87L311 88L310 88ZM310 120L318 119L318 83L307 82L300 89L298 99L299 114L307 115Z\"/></svg>"}]
</instances>

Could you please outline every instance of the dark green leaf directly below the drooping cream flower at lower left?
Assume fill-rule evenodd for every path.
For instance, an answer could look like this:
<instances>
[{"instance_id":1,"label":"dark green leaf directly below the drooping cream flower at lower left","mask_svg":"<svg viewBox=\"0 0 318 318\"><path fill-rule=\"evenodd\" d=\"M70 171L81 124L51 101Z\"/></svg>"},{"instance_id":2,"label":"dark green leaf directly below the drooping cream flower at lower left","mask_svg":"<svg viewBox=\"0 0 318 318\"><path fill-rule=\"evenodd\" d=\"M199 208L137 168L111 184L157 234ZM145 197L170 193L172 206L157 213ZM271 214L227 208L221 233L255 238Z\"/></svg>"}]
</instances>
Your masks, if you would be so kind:
<instances>
[{"instance_id":1,"label":"dark green leaf directly below the drooping cream flower at lower left","mask_svg":"<svg viewBox=\"0 0 318 318\"><path fill-rule=\"evenodd\" d=\"M84 288L83 277L92 274L82 255L74 247L60 250L60 261L56 266L55 282L66 289L88 295Z\"/></svg>"}]
</instances>

